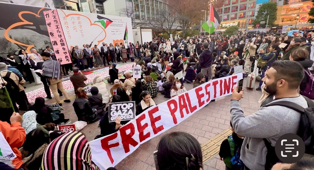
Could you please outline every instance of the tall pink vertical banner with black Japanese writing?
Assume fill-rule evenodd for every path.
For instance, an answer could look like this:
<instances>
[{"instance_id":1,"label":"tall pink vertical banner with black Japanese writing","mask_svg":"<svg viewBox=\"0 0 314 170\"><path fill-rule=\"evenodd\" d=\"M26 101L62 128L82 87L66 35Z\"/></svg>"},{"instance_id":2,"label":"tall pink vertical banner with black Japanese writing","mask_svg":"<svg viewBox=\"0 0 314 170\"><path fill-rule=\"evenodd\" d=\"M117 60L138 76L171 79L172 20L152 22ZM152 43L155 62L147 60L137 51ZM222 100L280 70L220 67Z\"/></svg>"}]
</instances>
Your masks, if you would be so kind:
<instances>
[{"instance_id":1,"label":"tall pink vertical banner with black Japanese writing","mask_svg":"<svg viewBox=\"0 0 314 170\"><path fill-rule=\"evenodd\" d=\"M43 11L52 47L61 65L72 63L70 51L64 37L57 9ZM66 22L66 20L64 21Z\"/></svg>"}]
</instances>

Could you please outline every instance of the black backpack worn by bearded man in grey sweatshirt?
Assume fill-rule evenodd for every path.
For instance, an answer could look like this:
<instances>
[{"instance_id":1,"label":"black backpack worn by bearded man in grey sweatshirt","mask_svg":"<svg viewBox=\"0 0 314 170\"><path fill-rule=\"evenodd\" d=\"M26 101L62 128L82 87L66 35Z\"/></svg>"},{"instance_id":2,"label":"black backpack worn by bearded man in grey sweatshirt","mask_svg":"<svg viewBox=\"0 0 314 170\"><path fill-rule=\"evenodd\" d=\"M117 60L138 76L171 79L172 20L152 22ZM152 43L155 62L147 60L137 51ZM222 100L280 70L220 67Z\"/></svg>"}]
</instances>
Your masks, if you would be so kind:
<instances>
[{"instance_id":1,"label":"black backpack worn by bearded man in grey sweatshirt","mask_svg":"<svg viewBox=\"0 0 314 170\"><path fill-rule=\"evenodd\" d=\"M266 104L267 106L284 106L296 110L301 113L300 124L297 135L302 138L305 143L305 153L314 155L314 103L311 99L303 96L306 99L308 108L295 104L290 101L276 101ZM279 162L279 159L273 147L267 139L263 139L267 148L265 170L271 169L274 164Z\"/></svg>"}]
</instances>

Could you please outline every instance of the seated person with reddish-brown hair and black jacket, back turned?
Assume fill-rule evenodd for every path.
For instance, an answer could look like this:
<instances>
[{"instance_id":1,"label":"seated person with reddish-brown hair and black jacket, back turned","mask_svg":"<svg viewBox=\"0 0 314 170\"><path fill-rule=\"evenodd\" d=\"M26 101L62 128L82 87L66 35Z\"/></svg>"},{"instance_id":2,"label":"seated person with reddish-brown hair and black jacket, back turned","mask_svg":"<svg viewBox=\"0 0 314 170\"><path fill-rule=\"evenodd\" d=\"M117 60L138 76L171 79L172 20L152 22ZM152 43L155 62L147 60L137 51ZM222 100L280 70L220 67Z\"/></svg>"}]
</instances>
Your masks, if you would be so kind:
<instances>
[{"instance_id":1,"label":"seated person with reddish-brown hair and black jacket, back turned","mask_svg":"<svg viewBox=\"0 0 314 170\"><path fill-rule=\"evenodd\" d=\"M96 110L92 109L83 88L78 88L76 96L73 107L78 121L85 121L88 124L98 121L102 115L98 115Z\"/></svg>"}]
</instances>

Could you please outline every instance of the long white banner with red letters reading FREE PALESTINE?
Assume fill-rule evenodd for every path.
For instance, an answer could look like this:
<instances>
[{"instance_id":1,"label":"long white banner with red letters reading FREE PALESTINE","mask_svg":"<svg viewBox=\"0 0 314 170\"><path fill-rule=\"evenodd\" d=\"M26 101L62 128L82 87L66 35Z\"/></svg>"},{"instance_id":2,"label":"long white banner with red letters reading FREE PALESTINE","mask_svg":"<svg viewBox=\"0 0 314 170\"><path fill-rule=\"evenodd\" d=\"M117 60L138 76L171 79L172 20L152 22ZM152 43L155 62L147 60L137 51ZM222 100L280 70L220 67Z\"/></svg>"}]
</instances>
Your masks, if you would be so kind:
<instances>
[{"instance_id":1,"label":"long white banner with red letters reading FREE PALESTINE","mask_svg":"<svg viewBox=\"0 0 314 170\"><path fill-rule=\"evenodd\" d=\"M140 144L181 123L212 99L231 94L242 76L215 79L145 110L118 132L91 141L92 160L104 170L116 166Z\"/></svg>"}]
</instances>

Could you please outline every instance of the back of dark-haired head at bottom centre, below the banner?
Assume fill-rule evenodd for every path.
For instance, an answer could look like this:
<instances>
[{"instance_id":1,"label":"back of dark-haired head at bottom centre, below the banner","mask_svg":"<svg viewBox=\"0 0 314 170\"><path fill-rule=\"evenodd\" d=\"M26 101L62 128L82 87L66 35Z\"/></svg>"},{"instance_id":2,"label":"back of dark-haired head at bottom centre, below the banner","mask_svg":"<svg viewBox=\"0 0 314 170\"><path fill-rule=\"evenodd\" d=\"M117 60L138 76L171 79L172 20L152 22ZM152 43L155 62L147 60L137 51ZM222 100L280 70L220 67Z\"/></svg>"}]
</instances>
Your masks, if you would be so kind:
<instances>
[{"instance_id":1,"label":"back of dark-haired head at bottom centre, below the banner","mask_svg":"<svg viewBox=\"0 0 314 170\"><path fill-rule=\"evenodd\" d=\"M160 170L203 170L202 148L191 134L185 132L165 134L161 137L157 150L156 164Z\"/></svg>"}]
</instances>

